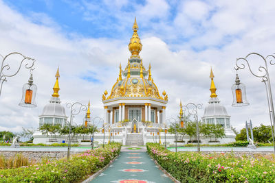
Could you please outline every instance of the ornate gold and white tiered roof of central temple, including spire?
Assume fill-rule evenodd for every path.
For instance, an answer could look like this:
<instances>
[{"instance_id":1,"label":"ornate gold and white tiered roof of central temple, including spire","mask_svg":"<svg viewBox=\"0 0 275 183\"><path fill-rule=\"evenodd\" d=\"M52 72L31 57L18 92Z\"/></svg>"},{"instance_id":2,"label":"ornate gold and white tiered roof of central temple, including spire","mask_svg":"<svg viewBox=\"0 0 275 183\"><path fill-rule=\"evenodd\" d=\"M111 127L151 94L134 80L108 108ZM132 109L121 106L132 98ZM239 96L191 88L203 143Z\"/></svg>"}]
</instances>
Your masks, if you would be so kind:
<instances>
[{"instance_id":1,"label":"ornate gold and white tiered roof of central temple, including spire","mask_svg":"<svg viewBox=\"0 0 275 183\"><path fill-rule=\"evenodd\" d=\"M122 71L120 64L118 79L113 85L109 96L107 90L105 90L102 95L102 101L117 97L152 97L168 101L168 95L165 92L163 96L159 95L159 90L153 82L151 64L149 64L148 70L143 65L142 58L140 58L142 43L137 30L138 26L135 19L133 36L128 45L131 57L128 59L128 64L126 64L124 71Z\"/></svg>"}]
</instances>

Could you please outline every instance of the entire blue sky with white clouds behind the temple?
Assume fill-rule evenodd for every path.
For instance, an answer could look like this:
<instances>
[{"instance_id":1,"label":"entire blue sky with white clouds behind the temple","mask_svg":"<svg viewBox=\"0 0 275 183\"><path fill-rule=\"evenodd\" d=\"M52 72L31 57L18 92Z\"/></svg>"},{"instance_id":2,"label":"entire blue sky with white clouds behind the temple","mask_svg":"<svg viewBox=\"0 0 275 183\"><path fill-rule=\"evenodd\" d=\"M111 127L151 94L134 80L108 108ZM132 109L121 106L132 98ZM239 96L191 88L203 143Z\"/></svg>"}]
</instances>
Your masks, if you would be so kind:
<instances>
[{"instance_id":1,"label":"entire blue sky with white clouds behind the temple","mask_svg":"<svg viewBox=\"0 0 275 183\"><path fill-rule=\"evenodd\" d=\"M236 58L274 53L275 1L73 1L0 0L0 53L19 51L36 59L37 108L21 108L21 90L29 72L8 78L0 96L0 130L38 127L38 116L53 91L60 69L60 95L66 102L91 100L91 112L103 117L102 93L110 93L121 62L130 57L129 39L136 16L143 49L140 56L169 101L166 118L176 117L179 101L203 103L210 95L210 67L221 103L240 130L246 120L270 124L265 86L248 69L239 72L250 106L232 108ZM252 60L256 72L263 60ZM8 60L15 71L19 59ZM275 66L270 66L275 91ZM69 114L69 110L67 110ZM80 123L80 113L75 119Z\"/></svg>"}]
</instances>

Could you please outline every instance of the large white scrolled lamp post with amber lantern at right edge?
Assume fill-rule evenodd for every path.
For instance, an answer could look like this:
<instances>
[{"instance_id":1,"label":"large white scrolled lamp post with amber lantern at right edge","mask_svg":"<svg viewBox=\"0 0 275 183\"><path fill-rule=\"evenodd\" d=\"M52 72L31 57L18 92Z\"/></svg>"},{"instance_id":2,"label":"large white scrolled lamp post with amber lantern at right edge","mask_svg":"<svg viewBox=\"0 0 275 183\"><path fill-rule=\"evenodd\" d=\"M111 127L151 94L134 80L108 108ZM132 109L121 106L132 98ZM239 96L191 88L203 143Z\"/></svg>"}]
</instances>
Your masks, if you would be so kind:
<instances>
[{"instance_id":1,"label":"large white scrolled lamp post with amber lantern at right edge","mask_svg":"<svg viewBox=\"0 0 275 183\"><path fill-rule=\"evenodd\" d=\"M252 71L251 67L250 67L250 61L248 60L248 58L250 56L256 56L258 57L260 60L263 60L264 62L264 66L259 66L259 74L256 74ZM269 60L270 59L270 60ZM269 64L270 65L274 65L275 62L275 56L273 55L268 55L266 57L261 56L259 53L249 53L245 58L237 58L236 59L236 71L238 71L239 69L245 69L245 64L248 64L248 69L250 71L250 73L252 73L252 75L254 75L255 77L259 77L261 78L261 82L263 82L265 84L265 90L266 90L266 94L267 94L267 103L268 103L268 108L269 108L269 112L270 112L270 125L271 125L271 129L272 129L272 141L273 141L273 147L274 147L274 154L275 154L275 144L274 144L274 132L275 132L275 115L274 115L274 104L273 104L273 98L272 98L272 88L271 88L271 84L270 84L270 73L268 71L268 62L267 60L269 60ZM241 62L243 61L243 62ZM240 63L241 62L241 63ZM249 105L249 103L247 101L243 101L243 99L246 100L246 93L245 93L245 86L243 85L243 90L242 88L239 88L239 86L241 85L241 82L239 80L239 76L236 73L236 83L233 84L232 86L232 94L234 97L232 106L246 106ZM246 102L246 103L245 103ZM246 105L243 105L246 104Z\"/></svg>"}]
</instances>

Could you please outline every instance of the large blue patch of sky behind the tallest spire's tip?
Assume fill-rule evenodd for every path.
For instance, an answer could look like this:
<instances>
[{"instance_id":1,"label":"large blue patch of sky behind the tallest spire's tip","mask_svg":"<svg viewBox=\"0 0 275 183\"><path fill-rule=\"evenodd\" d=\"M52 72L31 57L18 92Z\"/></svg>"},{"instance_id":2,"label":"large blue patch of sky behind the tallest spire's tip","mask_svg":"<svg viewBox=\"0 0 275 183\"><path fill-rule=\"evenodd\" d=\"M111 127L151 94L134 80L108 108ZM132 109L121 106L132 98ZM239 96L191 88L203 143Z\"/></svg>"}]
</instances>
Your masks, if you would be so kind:
<instances>
[{"instance_id":1,"label":"large blue patch of sky behind the tallest spire's tip","mask_svg":"<svg viewBox=\"0 0 275 183\"><path fill-rule=\"evenodd\" d=\"M84 36L85 38L115 38L131 34L133 19L137 21L142 30L142 36L157 36L166 41L170 49L179 50L179 45L188 45L190 40L200 38L214 26L206 25L212 16L219 10L217 5L208 5L207 9L194 10L198 17L184 16L186 22L177 22L185 3L190 1L71 1L71 0L4 0L11 8L29 17L33 23L58 25L63 34L71 36ZM205 5L211 1L194 1ZM151 5L150 5L151 4ZM159 5L159 7L157 7ZM164 8L162 8L164 6ZM147 8L146 8L147 7ZM148 14L151 8L159 9ZM192 8L192 5L191 7ZM203 11L205 11L203 13ZM192 11L191 11L192 12ZM190 12L188 12L190 13ZM186 19L186 18L190 19ZM188 27L190 26L190 27ZM186 32L186 29L190 31ZM170 31L170 34L167 32ZM188 45L194 51L205 50L208 47L221 48L231 42L236 34L224 34L219 42L206 45ZM127 40L123 40L127 42Z\"/></svg>"}]
</instances>

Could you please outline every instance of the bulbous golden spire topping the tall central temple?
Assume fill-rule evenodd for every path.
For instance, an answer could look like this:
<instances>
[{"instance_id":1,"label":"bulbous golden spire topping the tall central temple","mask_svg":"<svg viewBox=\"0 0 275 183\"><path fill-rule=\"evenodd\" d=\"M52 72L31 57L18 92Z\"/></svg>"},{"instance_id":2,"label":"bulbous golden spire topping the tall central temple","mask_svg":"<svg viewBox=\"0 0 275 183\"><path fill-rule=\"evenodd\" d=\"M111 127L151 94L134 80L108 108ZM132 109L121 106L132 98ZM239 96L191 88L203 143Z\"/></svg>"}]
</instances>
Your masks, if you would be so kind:
<instances>
[{"instance_id":1,"label":"bulbous golden spire topping the tall central temple","mask_svg":"<svg viewBox=\"0 0 275 183\"><path fill-rule=\"evenodd\" d=\"M129 51L132 53L131 58L140 58L139 53L142 50L142 43L138 37L137 30L137 20L135 19L135 23L133 23L133 36L128 45Z\"/></svg>"}]
</instances>

